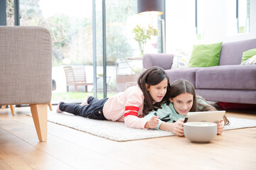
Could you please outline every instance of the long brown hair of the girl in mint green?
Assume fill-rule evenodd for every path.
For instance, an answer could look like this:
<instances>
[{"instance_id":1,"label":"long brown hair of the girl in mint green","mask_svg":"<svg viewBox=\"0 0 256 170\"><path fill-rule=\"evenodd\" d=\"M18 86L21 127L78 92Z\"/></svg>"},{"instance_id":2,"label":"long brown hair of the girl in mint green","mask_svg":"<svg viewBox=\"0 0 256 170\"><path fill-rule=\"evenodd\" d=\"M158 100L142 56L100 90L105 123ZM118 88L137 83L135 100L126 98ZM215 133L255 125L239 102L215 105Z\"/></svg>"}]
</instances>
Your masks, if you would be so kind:
<instances>
[{"instance_id":1,"label":"long brown hair of the girl in mint green","mask_svg":"<svg viewBox=\"0 0 256 170\"><path fill-rule=\"evenodd\" d=\"M176 96L184 93L189 93L193 95L193 105L190 110L190 112L195 111L217 111L217 109L214 106L211 106L210 103L206 101L205 98L202 96L198 96L198 98L201 98L201 100L205 101L207 104L201 104L197 103L197 96L196 91L193 85L185 80L185 79L177 79L174 81L174 83L171 84L171 90L169 91L169 94L166 94L166 96L169 96L169 98L175 98ZM170 101L167 101L167 104L169 105ZM203 106L202 109L199 109L198 106ZM226 117L226 115L223 116L224 125L229 125L230 121Z\"/></svg>"}]
</instances>

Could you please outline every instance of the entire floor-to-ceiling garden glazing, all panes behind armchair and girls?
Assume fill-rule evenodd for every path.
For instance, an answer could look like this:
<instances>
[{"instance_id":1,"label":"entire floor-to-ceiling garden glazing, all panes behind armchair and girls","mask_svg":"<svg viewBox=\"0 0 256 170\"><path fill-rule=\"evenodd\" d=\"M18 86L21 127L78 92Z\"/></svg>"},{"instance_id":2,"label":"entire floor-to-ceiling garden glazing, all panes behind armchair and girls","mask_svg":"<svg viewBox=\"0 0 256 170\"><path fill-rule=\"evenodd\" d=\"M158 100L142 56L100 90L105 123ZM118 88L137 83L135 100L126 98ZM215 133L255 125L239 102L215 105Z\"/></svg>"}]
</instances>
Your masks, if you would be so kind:
<instances>
[{"instance_id":1,"label":"entire floor-to-ceiling garden glazing, all panes behind armchair and girls","mask_svg":"<svg viewBox=\"0 0 256 170\"><path fill-rule=\"evenodd\" d=\"M6 0L7 25L14 26L14 1ZM92 15L95 2L96 16ZM105 10L102 4L105 2ZM53 91L52 102L80 102L96 89L97 98L103 97L103 74L106 74L107 97L137 84L137 77L143 71L139 45L132 30L138 25L144 28L160 28L157 18L142 18L137 15L137 0L19 0L19 25L43 26L50 30L53 42L53 79L57 89ZM105 24L103 19L105 18ZM95 20L94 20L95 19ZM93 26L93 21L96 27ZM105 28L105 30L103 29ZM95 29L95 32L93 31ZM105 32L104 32L105 31ZM160 30L159 30L160 31ZM93 35L96 35L95 46ZM103 41L105 35L105 46ZM159 36L148 40L145 53L159 52ZM104 49L106 62L103 60ZM95 52L95 53L94 53ZM93 69L96 54L96 70ZM104 72L104 65L107 70ZM88 86L68 86L65 70L69 67L84 67Z\"/></svg>"}]
</instances>

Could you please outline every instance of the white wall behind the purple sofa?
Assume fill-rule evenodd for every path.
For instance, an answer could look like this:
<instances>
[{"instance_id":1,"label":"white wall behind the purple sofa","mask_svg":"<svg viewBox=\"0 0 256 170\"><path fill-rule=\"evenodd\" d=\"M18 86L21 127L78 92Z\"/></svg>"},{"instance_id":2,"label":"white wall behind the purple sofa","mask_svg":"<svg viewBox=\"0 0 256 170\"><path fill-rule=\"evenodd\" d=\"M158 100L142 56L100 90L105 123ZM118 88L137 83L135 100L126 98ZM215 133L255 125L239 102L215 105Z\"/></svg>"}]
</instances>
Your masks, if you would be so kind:
<instances>
[{"instance_id":1,"label":"white wall behind the purple sofa","mask_svg":"<svg viewBox=\"0 0 256 170\"><path fill-rule=\"evenodd\" d=\"M203 23L203 40L196 40L195 1L166 0L166 53L178 48L191 51L193 44L232 42L256 38L256 0L250 0L250 33L230 35L228 15L230 0L198 0L204 11L198 11ZM233 9L232 9L233 10ZM200 15L200 16L199 16ZM202 16L203 15L203 16ZM235 17L235 16L234 16Z\"/></svg>"}]
</instances>

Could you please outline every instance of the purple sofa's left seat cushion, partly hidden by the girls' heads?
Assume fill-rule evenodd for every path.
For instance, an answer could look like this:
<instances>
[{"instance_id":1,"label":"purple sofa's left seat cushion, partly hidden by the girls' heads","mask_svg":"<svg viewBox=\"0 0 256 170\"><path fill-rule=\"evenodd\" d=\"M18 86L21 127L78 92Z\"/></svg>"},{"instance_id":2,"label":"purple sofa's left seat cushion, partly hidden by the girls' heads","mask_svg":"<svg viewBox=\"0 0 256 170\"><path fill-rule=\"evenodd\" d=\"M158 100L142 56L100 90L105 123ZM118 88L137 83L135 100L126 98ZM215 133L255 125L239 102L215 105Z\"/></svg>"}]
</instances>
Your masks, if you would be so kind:
<instances>
[{"instance_id":1,"label":"purple sofa's left seat cushion, partly hidden by the girls' heads","mask_svg":"<svg viewBox=\"0 0 256 170\"><path fill-rule=\"evenodd\" d=\"M176 79L186 79L196 86L196 71L201 67L183 68L183 69L166 69L166 73L169 76L170 84Z\"/></svg>"}]
</instances>

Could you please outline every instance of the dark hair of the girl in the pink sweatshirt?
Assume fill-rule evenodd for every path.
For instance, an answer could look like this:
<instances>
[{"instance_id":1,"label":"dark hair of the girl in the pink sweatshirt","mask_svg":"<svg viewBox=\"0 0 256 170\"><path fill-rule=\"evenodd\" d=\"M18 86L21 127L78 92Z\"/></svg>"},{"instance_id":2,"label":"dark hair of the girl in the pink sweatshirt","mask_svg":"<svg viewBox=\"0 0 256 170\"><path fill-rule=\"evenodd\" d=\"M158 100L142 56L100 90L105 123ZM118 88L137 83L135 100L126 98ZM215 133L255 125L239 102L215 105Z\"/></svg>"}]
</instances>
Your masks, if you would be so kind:
<instances>
[{"instance_id":1,"label":"dark hair of the girl in the pink sweatshirt","mask_svg":"<svg viewBox=\"0 0 256 170\"><path fill-rule=\"evenodd\" d=\"M146 84L149 86L159 84L164 79L167 79L167 90L166 94L169 93L170 90L170 83L169 83L169 77L167 76L166 72L164 72L164 69L161 67L151 67L149 69L146 69L138 78L138 86L140 89L142 89L142 92L144 94L144 106L143 106L143 115L147 115L149 111L156 110L156 108L161 107L161 103L168 100L168 97L165 95L163 100L161 102L157 102L153 104L153 98L150 96L149 91L146 89ZM149 87L148 86L148 87Z\"/></svg>"}]
</instances>

